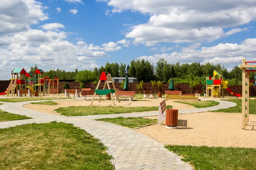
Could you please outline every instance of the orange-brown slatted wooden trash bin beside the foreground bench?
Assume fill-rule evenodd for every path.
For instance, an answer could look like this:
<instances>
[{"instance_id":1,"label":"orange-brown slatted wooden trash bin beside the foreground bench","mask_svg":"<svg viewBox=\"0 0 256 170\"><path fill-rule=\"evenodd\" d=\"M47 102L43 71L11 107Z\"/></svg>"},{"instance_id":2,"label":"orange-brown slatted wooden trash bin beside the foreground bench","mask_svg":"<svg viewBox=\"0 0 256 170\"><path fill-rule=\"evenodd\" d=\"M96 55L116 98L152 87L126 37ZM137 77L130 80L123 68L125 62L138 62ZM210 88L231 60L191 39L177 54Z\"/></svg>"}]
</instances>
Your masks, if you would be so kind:
<instances>
[{"instance_id":1,"label":"orange-brown slatted wooden trash bin beside the foreground bench","mask_svg":"<svg viewBox=\"0 0 256 170\"><path fill-rule=\"evenodd\" d=\"M174 129L178 126L178 112L177 109L166 109L166 128Z\"/></svg>"}]
</instances>

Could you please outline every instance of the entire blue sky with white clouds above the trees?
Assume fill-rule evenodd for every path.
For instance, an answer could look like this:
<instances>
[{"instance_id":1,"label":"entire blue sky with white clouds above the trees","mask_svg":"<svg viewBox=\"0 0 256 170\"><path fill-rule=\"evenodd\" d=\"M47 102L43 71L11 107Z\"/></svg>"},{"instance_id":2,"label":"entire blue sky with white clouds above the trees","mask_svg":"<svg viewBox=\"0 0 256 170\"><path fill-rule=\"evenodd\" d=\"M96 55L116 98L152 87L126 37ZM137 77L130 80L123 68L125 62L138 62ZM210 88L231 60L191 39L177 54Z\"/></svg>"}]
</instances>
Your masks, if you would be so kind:
<instances>
[{"instance_id":1,"label":"entire blue sky with white clouds above the trees","mask_svg":"<svg viewBox=\"0 0 256 170\"><path fill-rule=\"evenodd\" d=\"M157 3L156 3L157 2ZM256 60L256 0L0 0L0 79L145 59Z\"/></svg>"}]
</instances>

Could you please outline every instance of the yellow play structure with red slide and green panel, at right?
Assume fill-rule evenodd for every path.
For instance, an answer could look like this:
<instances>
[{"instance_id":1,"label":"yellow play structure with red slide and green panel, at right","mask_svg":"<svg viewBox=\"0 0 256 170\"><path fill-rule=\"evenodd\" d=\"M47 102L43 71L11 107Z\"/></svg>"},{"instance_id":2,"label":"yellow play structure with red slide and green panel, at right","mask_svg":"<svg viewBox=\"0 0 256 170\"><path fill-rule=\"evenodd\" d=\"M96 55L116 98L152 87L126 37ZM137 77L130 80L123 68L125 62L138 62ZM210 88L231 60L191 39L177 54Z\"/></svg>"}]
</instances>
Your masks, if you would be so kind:
<instances>
[{"instance_id":1,"label":"yellow play structure with red slide and green panel, at right","mask_svg":"<svg viewBox=\"0 0 256 170\"><path fill-rule=\"evenodd\" d=\"M230 92L233 96L241 97L240 94L235 94L231 91L230 88L227 87L228 81L224 81L221 74L218 71L213 71L212 77L206 77L206 97L224 97L224 89Z\"/></svg>"}]
</instances>

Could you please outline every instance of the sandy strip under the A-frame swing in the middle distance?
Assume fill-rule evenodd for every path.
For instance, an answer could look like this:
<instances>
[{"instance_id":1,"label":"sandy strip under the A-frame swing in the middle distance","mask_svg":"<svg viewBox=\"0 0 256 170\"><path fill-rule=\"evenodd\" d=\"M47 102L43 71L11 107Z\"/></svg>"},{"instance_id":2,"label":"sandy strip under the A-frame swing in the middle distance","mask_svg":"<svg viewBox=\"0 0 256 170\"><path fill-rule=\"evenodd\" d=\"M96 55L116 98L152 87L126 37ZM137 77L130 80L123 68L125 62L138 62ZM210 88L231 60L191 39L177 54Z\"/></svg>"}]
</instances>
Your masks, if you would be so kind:
<instances>
[{"instance_id":1,"label":"sandy strip under the A-frame swing in the middle distance","mask_svg":"<svg viewBox=\"0 0 256 170\"><path fill-rule=\"evenodd\" d=\"M158 106L159 103L161 101L163 101L163 99L144 99L147 101L140 101L139 99L137 99L136 101L127 101L127 100L121 100L121 102L119 103L118 101L116 101L116 106L123 106L123 107L150 107L150 106ZM73 101L64 101L64 100L59 100L59 101L55 101L58 103L58 105L55 106L51 106L51 105L36 105L36 104L27 104L27 105L23 105L24 108L28 108L31 109L33 111L40 111L40 112L44 112L44 113L50 113L50 114L55 114L55 115L59 115L59 113L56 113L54 110L57 108L61 108L61 107L69 107L69 106L89 106L91 101L87 100L73 100ZM172 101L166 101L167 105L172 105L173 108L179 109L179 110L183 110L183 109L192 109L194 108L191 105L185 105L185 104L181 104L181 103L175 103ZM113 106L113 102L112 101L97 101L95 100L93 102L93 106Z\"/></svg>"}]
</instances>

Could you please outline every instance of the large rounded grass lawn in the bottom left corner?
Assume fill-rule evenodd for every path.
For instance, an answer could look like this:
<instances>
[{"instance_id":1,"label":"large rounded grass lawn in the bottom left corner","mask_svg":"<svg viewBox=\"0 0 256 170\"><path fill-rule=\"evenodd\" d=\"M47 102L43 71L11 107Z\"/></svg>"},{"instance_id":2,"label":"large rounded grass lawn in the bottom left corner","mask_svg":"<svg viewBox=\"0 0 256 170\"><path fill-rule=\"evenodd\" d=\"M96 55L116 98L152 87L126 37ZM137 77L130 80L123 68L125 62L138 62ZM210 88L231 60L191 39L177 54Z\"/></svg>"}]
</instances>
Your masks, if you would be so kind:
<instances>
[{"instance_id":1,"label":"large rounded grass lawn in the bottom left corner","mask_svg":"<svg viewBox=\"0 0 256 170\"><path fill-rule=\"evenodd\" d=\"M0 129L1 170L114 170L107 148L63 122Z\"/></svg>"}]
</instances>

